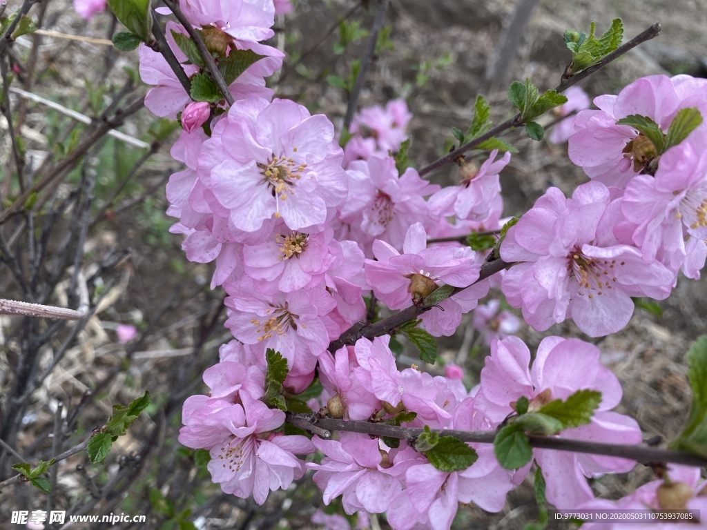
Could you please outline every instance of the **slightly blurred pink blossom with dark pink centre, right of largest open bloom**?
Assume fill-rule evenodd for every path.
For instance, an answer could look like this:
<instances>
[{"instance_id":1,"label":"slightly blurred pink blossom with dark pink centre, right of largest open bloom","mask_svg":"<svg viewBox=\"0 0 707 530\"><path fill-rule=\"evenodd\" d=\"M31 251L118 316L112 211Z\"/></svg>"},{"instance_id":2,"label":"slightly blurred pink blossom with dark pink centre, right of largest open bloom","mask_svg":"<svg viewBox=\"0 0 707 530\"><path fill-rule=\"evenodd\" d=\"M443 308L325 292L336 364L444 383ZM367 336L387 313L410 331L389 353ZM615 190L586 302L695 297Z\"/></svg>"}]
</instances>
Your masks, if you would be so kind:
<instances>
[{"instance_id":1,"label":"slightly blurred pink blossom with dark pink centre, right of largest open bloom","mask_svg":"<svg viewBox=\"0 0 707 530\"><path fill-rule=\"evenodd\" d=\"M410 225L433 223L423 197L439 187L422 180L411 167L398 175L395 160L372 156L352 162L347 174L349 196L339 208L339 217L350 232L342 239L363 243L367 250L377 237L400 249Z\"/></svg>"}]
</instances>

